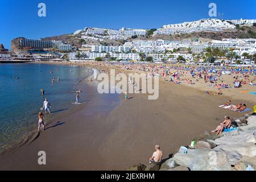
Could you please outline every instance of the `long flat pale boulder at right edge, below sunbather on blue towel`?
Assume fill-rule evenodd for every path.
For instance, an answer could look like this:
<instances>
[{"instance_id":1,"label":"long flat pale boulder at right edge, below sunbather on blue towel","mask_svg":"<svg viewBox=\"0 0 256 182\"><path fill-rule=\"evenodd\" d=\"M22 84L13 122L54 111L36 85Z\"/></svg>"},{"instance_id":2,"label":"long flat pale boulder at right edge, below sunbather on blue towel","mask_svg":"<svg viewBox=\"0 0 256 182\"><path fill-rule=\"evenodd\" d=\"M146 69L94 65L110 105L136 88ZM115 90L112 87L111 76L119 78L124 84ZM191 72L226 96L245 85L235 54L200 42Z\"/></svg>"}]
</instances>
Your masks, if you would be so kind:
<instances>
[{"instance_id":1,"label":"long flat pale boulder at right edge, below sunbather on blue towel","mask_svg":"<svg viewBox=\"0 0 256 182\"><path fill-rule=\"evenodd\" d=\"M231 136L225 136L221 138L217 138L215 140L215 143L217 145L225 145L225 144L237 144L237 143L255 143L255 137L253 134L240 134L240 135L231 135Z\"/></svg>"}]
</instances>

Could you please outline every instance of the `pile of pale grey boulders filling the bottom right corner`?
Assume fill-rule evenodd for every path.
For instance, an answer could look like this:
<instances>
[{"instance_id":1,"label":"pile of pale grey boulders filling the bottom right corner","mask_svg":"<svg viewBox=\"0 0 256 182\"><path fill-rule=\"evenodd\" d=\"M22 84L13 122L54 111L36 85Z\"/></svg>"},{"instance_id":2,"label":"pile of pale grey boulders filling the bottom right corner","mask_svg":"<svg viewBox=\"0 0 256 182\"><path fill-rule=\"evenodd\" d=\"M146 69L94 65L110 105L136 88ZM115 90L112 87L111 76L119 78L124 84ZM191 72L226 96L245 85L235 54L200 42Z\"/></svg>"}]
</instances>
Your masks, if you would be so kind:
<instances>
[{"instance_id":1,"label":"pile of pale grey boulders filling the bottom right corner","mask_svg":"<svg viewBox=\"0 0 256 182\"><path fill-rule=\"evenodd\" d=\"M237 121L236 121L237 120ZM193 148L180 147L173 158L159 168L147 166L147 171L245 171L256 169L256 116L244 115L234 119L237 130L220 136L209 132L194 138ZM241 123L241 124L240 124ZM233 166L233 167L232 167Z\"/></svg>"}]
</instances>

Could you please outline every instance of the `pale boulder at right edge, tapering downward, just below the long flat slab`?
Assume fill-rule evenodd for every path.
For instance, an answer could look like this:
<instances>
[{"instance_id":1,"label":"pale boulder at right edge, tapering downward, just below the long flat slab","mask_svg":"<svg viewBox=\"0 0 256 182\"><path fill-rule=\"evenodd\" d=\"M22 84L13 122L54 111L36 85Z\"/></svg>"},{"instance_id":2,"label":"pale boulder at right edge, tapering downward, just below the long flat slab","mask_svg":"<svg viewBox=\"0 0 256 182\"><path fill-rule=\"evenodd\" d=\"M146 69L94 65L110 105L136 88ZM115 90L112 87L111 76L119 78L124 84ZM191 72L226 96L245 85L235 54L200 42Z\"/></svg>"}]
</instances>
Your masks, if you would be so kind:
<instances>
[{"instance_id":1,"label":"pale boulder at right edge, tapering downward, just below the long flat slab","mask_svg":"<svg viewBox=\"0 0 256 182\"><path fill-rule=\"evenodd\" d=\"M225 152L230 165L236 165L243 156L256 156L256 145L254 143L236 142L233 144L222 144L213 150Z\"/></svg>"}]
</instances>

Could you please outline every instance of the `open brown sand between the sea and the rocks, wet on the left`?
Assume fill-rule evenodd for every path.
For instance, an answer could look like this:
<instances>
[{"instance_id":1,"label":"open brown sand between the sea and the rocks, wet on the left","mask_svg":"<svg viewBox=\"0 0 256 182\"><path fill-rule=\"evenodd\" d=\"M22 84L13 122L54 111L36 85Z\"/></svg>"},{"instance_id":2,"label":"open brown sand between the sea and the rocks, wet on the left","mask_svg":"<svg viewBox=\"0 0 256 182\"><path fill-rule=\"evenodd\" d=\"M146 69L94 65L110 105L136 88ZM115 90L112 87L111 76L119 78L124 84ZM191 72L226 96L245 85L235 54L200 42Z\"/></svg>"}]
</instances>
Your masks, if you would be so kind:
<instances>
[{"instance_id":1,"label":"open brown sand between the sea and the rocks, wet on the left","mask_svg":"<svg viewBox=\"0 0 256 182\"><path fill-rule=\"evenodd\" d=\"M89 66L89 65L87 65ZM90 65L98 67L98 65ZM232 81L231 76L224 76ZM31 144L9 152L0 158L2 170L125 170L135 164L147 164L155 144L168 158L174 150L204 131L210 131L224 120L225 115L241 117L218 107L228 100L253 107L252 86L224 90L222 96L206 95L204 82L195 85L175 85L159 82L158 100L148 100L146 94L98 94L81 110L71 113L49 127ZM38 164L38 151L46 151L47 165Z\"/></svg>"}]
</instances>

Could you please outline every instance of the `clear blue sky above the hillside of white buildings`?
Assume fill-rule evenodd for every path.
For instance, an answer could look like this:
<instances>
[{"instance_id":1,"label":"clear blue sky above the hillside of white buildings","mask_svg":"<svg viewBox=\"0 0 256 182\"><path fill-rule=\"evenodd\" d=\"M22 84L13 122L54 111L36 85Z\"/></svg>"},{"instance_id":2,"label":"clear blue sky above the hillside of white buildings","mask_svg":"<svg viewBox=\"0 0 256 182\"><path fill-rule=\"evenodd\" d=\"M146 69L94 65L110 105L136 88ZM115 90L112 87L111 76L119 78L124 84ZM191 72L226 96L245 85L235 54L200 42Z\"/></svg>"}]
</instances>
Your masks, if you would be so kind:
<instances>
[{"instance_id":1,"label":"clear blue sky above the hillside of white buildings","mask_svg":"<svg viewBox=\"0 0 256 182\"><path fill-rule=\"evenodd\" d=\"M46 17L38 4L46 4ZM255 0L0 0L0 43L69 34L84 27L159 28L163 24L210 18L214 2L224 19L256 19Z\"/></svg>"}]
</instances>

